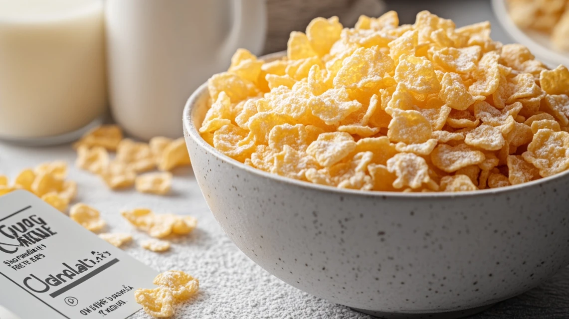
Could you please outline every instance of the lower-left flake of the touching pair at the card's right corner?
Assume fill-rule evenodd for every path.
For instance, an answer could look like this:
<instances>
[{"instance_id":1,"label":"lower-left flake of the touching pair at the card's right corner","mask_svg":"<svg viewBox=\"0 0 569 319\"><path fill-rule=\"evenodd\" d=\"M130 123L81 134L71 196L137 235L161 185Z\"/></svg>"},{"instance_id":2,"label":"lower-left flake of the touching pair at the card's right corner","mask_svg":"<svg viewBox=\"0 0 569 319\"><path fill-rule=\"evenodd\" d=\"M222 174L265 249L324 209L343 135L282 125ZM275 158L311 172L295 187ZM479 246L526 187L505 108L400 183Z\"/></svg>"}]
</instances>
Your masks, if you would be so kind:
<instances>
[{"instance_id":1,"label":"lower-left flake of the touching pair at the card's right corner","mask_svg":"<svg viewBox=\"0 0 569 319\"><path fill-rule=\"evenodd\" d=\"M174 316L174 296L168 287L137 289L134 291L134 298L149 316L156 318Z\"/></svg>"}]
</instances>

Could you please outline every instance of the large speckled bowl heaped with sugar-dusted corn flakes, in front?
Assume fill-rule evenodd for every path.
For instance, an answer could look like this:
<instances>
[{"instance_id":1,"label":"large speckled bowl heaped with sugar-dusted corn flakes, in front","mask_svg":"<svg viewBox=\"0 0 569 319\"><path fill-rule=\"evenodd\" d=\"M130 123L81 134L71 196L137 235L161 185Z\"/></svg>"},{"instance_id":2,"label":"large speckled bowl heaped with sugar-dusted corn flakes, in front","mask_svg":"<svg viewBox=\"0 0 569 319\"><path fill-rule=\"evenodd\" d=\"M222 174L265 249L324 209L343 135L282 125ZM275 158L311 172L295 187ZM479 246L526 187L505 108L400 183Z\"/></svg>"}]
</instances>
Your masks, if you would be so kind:
<instances>
[{"instance_id":1,"label":"large speckled bowl heaped with sugar-dusted corn flakes, in front","mask_svg":"<svg viewBox=\"0 0 569 319\"><path fill-rule=\"evenodd\" d=\"M384 318L457 318L569 263L569 71L488 22L316 18L189 98L209 208L255 263Z\"/></svg>"}]
</instances>

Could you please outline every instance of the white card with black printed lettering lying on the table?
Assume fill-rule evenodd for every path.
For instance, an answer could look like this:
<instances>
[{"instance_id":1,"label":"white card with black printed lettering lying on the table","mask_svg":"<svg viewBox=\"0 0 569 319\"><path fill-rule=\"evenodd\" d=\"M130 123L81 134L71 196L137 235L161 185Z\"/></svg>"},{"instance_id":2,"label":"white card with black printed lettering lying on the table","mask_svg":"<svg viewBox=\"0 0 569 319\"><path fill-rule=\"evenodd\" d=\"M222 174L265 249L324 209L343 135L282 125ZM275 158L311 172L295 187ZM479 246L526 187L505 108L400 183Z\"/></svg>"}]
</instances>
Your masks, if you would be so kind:
<instances>
[{"instance_id":1,"label":"white card with black printed lettering lying on the table","mask_svg":"<svg viewBox=\"0 0 569 319\"><path fill-rule=\"evenodd\" d=\"M157 274L34 194L0 197L0 305L22 319L123 319Z\"/></svg>"}]
</instances>

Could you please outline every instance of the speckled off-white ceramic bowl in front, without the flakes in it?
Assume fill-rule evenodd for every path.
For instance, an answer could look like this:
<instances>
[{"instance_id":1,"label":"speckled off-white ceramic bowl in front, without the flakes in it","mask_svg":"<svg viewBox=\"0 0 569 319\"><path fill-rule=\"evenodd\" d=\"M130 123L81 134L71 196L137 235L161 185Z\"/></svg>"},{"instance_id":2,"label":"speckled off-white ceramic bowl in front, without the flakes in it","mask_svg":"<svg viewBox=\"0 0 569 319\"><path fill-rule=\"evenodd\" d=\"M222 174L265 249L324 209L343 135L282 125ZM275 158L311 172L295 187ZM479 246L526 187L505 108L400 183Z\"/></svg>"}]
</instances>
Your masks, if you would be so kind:
<instances>
[{"instance_id":1,"label":"speckled off-white ceramic bowl in front, without the flakes in it","mask_svg":"<svg viewBox=\"0 0 569 319\"><path fill-rule=\"evenodd\" d=\"M569 264L569 172L462 193L343 190L272 175L209 146L184 109L197 182L225 233L294 287L384 318L457 318Z\"/></svg>"}]
</instances>

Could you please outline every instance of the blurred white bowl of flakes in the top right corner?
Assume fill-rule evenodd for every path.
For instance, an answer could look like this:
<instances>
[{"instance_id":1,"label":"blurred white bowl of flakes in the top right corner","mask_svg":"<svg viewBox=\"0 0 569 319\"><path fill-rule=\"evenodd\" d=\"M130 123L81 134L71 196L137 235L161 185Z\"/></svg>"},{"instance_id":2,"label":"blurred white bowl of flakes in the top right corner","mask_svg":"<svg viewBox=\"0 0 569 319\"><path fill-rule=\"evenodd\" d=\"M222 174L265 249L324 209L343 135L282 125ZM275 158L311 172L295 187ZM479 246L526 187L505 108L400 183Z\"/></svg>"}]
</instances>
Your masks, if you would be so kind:
<instances>
[{"instance_id":1,"label":"blurred white bowl of flakes in the top right corner","mask_svg":"<svg viewBox=\"0 0 569 319\"><path fill-rule=\"evenodd\" d=\"M549 65L569 65L566 0L492 0L496 18L516 42Z\"/></svg>"}]
</instances>

